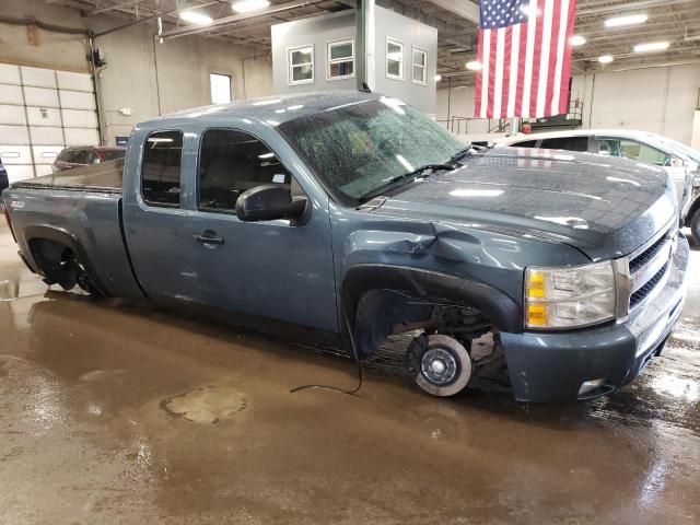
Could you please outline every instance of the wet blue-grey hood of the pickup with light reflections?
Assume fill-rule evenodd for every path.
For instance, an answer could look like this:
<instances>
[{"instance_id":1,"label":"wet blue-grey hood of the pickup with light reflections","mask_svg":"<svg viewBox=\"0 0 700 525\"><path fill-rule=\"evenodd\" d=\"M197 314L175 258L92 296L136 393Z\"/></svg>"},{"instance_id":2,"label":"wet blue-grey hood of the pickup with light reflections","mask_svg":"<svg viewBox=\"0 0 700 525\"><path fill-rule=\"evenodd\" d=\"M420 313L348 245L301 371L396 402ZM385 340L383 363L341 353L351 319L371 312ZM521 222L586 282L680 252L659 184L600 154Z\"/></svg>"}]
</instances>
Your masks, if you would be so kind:
<instances>
[{"instance_id":1,"label":"wet blue-grey hood of the pickup with light reflections","mask_svg":"<svg viewBox=\"0 0 700 525\"><path fill-rule=\"evenodd\" d=\"M495 148L402 186L380 212L562 242L592 260L633 252L677 213L663 168L526 148Z\"/></svg>"}]
</instances>

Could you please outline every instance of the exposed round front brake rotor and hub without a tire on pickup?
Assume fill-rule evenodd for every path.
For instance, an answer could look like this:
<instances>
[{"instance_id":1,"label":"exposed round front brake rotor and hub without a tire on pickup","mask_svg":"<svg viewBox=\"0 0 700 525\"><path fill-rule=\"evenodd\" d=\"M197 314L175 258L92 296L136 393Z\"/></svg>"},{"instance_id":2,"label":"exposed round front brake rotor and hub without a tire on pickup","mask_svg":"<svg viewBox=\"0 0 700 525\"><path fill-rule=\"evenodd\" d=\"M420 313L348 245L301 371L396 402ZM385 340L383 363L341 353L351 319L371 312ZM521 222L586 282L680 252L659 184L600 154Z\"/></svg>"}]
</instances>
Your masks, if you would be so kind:
<instances>
[{"instance_id":1,"label":"exposed round front brake rotor and hub without a tire on pickup","mask_svg":"<svg viewBox=\"0 0 700 525\"><path fill-rule=\"evenodd\" d=\"M448 336L433 334L413 339L406 360L416 384L433 396L454 396L471 377L469 352Z\"/></svg>"}]
</instances>

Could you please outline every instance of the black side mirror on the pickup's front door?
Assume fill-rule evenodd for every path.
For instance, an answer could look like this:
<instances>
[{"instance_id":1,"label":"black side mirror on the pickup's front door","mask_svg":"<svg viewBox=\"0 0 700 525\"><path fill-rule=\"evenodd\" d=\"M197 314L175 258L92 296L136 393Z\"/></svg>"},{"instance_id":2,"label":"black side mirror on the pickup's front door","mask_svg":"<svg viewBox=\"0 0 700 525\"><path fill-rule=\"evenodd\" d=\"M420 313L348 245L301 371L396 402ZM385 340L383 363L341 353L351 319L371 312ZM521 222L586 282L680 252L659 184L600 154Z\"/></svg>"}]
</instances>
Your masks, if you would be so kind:
<instances>
[{"instance_id":1,"label":"black side mirror on the pickup's front door","mask_svg":"<svg viewBox=\"0 0 700 525\"><path fill-rule=\"evenodd\" d=\"M256 186L238 196L236 217L242 221L275 221L290 219L303 221L308 208L305 197L292 200L289 189L279 184Z\"/></svg>"}]
</instances>

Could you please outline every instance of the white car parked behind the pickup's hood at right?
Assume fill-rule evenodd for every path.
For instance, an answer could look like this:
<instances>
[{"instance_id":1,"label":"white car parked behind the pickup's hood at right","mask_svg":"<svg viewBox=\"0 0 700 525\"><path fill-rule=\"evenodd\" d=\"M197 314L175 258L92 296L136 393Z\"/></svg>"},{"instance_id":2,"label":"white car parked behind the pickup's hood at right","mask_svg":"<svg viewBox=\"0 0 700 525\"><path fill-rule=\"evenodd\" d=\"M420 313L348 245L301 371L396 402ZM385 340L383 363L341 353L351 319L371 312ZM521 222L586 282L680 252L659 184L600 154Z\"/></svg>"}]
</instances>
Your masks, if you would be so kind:
<instances>
[{"instance_id":1,"label":"white car parked behind the pickup's hood at right","mask_svg":"<svg viewBox=\"0 0 700 525\"><path fill-rule=\"evenodd\" d=\"M681 220L691 228L693 237L700 242L700 187L693 187L693 178L700 165L700 152L680 142L646 131L575 129L518 133L497 139L495 143L516 148L583 151L661 166L676 186ZM700 183L700 176L698 182Z\"/></svg>"}]
</instances>

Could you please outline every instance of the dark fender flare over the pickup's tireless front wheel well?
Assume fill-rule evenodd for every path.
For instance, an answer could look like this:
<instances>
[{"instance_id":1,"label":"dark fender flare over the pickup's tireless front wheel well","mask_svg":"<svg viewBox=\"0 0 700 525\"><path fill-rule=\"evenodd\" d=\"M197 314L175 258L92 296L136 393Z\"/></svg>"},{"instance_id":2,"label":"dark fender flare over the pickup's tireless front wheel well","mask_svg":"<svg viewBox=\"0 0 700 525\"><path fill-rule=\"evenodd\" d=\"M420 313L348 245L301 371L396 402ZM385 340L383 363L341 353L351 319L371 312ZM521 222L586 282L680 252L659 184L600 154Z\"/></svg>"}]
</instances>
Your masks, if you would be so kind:
<instances>
[{"instance_id":1,"label":"dark fender flare over the pickup's tireless front wheel well","mask_svg":"<svg viewBox=\"0 0 700 525\"><path fill-rule=\"evenodd\" d=\"M353 331L358 303L371 290L392 290L435 304L472 307L502 331L523 331L521 306L493 287L446 273L381 264L353 266L342 279L342 307Z\"/></svg>"}]
</instances>

